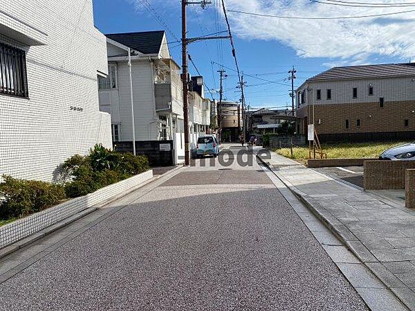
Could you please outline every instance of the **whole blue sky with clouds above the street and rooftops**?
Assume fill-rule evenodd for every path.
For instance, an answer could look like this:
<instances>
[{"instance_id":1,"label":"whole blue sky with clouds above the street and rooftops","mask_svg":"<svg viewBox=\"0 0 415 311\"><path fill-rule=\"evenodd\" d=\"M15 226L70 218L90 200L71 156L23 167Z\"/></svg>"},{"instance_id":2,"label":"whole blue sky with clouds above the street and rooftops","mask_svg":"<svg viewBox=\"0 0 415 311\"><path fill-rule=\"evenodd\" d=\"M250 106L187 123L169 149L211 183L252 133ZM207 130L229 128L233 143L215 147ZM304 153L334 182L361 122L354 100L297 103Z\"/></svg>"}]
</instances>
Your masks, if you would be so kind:
<instances>
[{"instance_id":1,"label":"whole blue sky with clouds above the street and rooftops","mask_svg":"<svg viewBox=\"0 0 415 311\"><path fill-rule=\"evenodd\" d=\"M93 4L95 26L102 33L165 30L170 53L181 64L181 1L93 0ZM293 66L298 87L332 66L415 62L415 0L225 0L225 7L251 109L291 107L287 78ZM332 19L367 15L371 17ZM206 8L189 5L187 28L187 37L226 31L221 0L212 0ZM220 69L228 75L224 98L241 98L229 39L194 42L189 54L214 98L219 99ZM191 75L198 75L189 66ZM211 97L209 91L206 94Z\"/></svg>"}]
</instances>

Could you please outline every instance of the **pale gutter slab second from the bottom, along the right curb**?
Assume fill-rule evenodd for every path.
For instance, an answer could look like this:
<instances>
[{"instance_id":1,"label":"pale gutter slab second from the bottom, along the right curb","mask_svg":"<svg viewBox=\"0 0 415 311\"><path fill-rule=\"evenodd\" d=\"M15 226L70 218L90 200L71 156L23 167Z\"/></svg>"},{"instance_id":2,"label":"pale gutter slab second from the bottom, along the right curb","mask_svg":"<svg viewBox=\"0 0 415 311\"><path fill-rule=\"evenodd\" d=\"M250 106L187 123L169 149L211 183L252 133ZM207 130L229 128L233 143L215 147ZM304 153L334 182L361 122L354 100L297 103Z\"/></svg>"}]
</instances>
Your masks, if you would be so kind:
<instances>
[{"instance_id":1,"label":"pale gutter slab second from the bottom, along the right curb","mask_svg":"<svg viewBox=\"0 0 415 311\"><path fill-rule=\"evenodd\" d=\"M363 264L337 263L337 265L353 287L385 288L385 285Z\"/></svg>"}]
</instances>

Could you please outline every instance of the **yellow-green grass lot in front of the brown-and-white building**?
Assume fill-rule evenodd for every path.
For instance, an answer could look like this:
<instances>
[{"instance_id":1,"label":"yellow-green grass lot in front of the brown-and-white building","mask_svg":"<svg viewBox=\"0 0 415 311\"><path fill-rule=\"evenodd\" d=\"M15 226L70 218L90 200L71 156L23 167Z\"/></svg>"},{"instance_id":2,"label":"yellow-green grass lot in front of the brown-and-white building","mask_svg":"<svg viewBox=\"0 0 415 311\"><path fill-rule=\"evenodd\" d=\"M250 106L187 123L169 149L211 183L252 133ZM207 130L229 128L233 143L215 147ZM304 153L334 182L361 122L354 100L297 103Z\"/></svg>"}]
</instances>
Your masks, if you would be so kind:
<instances>
[{"instance_id":1,"label":"yellow-green grass lot in front of the brown-and-white building","mask_svg":"<svg viewBox=\"0 0 415 311\"><path fill-rule=\"evenodd\" d=\"M378 158L382 151L394 147L395 145L402 145L403 143L407 142L322 144L322 150L323 152L326 152L327 159ZM308 159L308 147L294 148L293 157L291 157L290 148L275 149L274 151L284 157L295 159L302 163Z\"/></svg>"}]
</instances>

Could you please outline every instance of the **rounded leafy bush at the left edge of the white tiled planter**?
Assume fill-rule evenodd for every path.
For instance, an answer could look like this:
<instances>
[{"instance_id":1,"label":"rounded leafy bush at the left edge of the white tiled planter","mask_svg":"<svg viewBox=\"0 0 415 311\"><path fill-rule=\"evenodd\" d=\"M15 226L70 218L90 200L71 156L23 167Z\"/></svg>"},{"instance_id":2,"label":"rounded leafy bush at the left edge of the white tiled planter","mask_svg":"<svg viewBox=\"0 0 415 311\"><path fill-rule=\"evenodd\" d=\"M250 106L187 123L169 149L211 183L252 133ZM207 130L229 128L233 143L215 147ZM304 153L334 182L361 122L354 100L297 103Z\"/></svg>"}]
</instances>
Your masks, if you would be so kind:
<instances>
[{"instance_id":1,"label":"rounded leafy bush at the left edge of the white tiled planter","mask_svg":"<svg viewBox=\"0 0 415 311\"><path fill-rule=\"evenodd\" d=\"M64 187L44 181L3 176L0 184L0 217L22 217L58 204L65 198Z\"/></svg>"}]
</instances>

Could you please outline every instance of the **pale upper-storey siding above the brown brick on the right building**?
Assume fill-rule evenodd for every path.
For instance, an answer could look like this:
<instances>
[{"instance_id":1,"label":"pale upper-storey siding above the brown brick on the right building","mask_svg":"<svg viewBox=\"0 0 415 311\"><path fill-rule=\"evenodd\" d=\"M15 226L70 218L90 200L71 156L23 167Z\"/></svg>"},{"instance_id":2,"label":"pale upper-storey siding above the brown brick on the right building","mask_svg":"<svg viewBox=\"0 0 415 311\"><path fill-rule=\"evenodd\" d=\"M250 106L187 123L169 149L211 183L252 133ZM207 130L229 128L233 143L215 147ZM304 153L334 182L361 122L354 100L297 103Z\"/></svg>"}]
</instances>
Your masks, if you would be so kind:
<instances>
[{"instance_id":1,"label":"pale upper-storey siding above the brown brick on the right building","mask_svg":"<svg viewBox=\"0 0 415 311\"><path fill-rule=\"evenodd\" d=\"M340 80L329 82L308 82L310 91L306 96L306 105L373 103L380 97L388 101L415 100L415 77L382 78L365 80ZM374 87L374 95L369 96L369 84ZM353 87L358 88L358 98L353 98ZM302 91L306 86L299 89ZM321 89L322 99L316 100L317 89ZM326 90L331 89L331 100L326 99ZM301 98L301 96L298 96ZM313 102L312 102L313 100Z\"/></svg>"}]
</instances>

